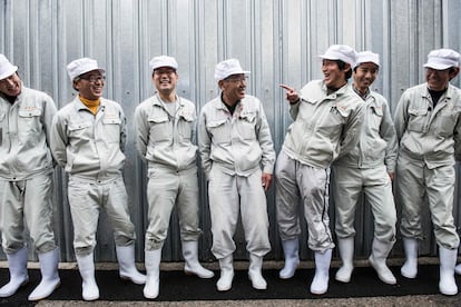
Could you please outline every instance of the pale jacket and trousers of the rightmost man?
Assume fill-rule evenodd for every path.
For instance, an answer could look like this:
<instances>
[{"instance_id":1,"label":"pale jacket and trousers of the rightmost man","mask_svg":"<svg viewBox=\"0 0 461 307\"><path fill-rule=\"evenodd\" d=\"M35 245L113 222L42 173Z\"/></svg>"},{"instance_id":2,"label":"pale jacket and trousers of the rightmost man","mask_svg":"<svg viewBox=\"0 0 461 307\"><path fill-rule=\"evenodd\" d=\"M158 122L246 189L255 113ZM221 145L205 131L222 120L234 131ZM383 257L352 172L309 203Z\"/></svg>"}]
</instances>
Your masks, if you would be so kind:
<instances>
[{"instance_id":1,"label":"pale jacket and trousers of the rightmost man","mask_svg":"<svg viewBox=\"0 0 461 307\"><path fill-rule=\"evenodd\" d=\"M434 107L426 83L410 88L400 98L394 123L400 141L396 197L402 204L402 236L423 239L421 210L426 196L438 245L455 249L454 160L461 159L461 90L449 85Z\"/></svg>"}]
</instances>

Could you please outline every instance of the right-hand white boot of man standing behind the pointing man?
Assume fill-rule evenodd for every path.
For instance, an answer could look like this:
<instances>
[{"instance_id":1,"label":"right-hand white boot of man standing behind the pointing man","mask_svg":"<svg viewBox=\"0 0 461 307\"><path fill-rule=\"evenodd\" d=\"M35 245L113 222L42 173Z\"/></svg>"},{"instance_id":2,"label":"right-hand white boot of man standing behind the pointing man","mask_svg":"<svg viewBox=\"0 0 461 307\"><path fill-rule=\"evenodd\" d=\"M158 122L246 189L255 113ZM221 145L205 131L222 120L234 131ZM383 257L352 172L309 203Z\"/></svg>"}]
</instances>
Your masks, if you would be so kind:
<instances>
[{"instance_id":1,"label":"right-hand white boot of man standing behind the pointing man","mask_svg":"<svg viewBox=\"0 0 461 307\"><path fill-rule=\"evenodd\" d=\"M388 285L396 284L395 276L392 274L385 263L393 246L393 242L383 242L374 238L372 245L372 254L369 258L370 264L377 273L377 277L381 279L381 281Z\"/></svg>"}]
</instances>

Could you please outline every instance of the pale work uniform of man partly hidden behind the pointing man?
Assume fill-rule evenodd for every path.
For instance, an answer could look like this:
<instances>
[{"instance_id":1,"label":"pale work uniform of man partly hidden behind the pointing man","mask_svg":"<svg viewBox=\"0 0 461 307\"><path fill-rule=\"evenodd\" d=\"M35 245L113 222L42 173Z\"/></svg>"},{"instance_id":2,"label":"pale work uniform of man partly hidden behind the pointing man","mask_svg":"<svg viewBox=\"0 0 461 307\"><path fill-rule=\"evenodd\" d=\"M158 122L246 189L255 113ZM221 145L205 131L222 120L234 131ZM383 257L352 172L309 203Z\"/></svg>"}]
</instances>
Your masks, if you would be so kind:
<instances>
[{"instance_id":1,"label":"pale work uniform of man partly hidden behind the pointing man","mask_svg":"<svg viewBox=\"0 0 461 307\"><path fill-rule=\"evenodd\" d=\"M362 103L360 141L347 155L341 156L332 168L335 232L339 238L355 236L355 208L363 192L372 208L374 237L382 242L393 244L396 211L389 174L395 170L395 129L384 97L370 91Z\"/></svg>"}]
</instances>

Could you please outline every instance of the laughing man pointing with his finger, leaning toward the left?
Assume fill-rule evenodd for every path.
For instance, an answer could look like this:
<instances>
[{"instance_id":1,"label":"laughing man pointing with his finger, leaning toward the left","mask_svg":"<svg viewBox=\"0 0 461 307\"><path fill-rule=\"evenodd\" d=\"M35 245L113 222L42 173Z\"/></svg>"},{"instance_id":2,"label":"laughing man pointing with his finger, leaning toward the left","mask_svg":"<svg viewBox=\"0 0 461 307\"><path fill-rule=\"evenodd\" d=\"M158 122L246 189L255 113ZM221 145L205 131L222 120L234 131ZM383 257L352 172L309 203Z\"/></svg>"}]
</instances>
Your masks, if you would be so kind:
<instances>
[{"instance_id":1,"label":"laughing man pointing with his finger, leaning toward the left","mask_svg":"<svg viewBox=\"0 0 461 307\"><path fill-rule=\"evenodd\" d=\"M355 57L351 47L333 44L320 56L323 80L308 82L300 93L282 85L294 122L288 127L275 169L277 224L285 254L279 277L293 277L300 264L302 200L308 247L315 258L311 293L316 295L328 289L334 248L328 217L330 166L340 151L345 155L352 150L360 137L363 101L347 86Z\"/></svg>"}]
</instances>

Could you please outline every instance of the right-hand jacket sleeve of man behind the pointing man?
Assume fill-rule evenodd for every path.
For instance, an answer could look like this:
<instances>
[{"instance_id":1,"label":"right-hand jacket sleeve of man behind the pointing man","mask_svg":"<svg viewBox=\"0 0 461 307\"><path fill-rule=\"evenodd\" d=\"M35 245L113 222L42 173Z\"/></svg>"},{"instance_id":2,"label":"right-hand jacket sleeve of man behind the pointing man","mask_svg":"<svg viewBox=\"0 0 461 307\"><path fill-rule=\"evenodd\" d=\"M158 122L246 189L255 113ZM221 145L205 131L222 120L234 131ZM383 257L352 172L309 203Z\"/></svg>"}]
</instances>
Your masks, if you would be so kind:
<instances>
[{"instance_id":1,"label":"right-hand jacket sleeve of man behind the pointing man","mask_svg":"<svg viewBox=\"0 0 461 307\"><path fill-rule=\"evenodd\" d=\"M383 121L381 122L380 135L388 145L385 148L384 164L388 168L388 172L394 172L399 145L396 140L394 122L392 121L392 116L388 103L383 106Z\"/></svg>"}]
</instances>

